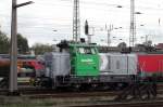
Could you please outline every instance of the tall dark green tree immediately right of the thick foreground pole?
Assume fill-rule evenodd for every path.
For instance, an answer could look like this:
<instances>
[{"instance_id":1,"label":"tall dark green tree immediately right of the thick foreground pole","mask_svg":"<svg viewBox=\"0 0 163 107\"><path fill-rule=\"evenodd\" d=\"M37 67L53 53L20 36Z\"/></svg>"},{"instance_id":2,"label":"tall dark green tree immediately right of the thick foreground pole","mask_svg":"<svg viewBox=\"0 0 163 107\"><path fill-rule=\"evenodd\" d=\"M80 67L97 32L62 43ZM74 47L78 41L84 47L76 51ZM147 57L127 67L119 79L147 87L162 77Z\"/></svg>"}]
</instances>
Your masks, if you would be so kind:
<instances>
[{"instance_id":1,"label":"tall dark green tree immediately right of the thick foreground pole","mask_svg":"<svg viewBox=\"0 0 163 107\"><path fill-rule=\"evenodd\" d=\"M17 34L17 49L20 54L26 54L29 51L28 41L21 34Z\"/></svg>"}]
</instances>

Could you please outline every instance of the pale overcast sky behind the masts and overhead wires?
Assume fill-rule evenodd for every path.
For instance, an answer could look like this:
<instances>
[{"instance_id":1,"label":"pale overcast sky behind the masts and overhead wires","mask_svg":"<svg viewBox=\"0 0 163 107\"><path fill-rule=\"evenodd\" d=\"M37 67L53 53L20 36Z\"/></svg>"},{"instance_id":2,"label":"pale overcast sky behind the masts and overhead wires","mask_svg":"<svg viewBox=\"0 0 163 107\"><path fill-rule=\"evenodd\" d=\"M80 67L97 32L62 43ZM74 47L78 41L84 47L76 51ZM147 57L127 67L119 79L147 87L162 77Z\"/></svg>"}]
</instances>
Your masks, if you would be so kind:
<instances>
[{"instance_id":1,"label":"pale overcast sky behind the masts and overhead wires","mask_svg":"<svg viewBox=\"0 0 163 107\"><path fill-rule=\"evenodd\" d=\"M11 1L0 0L1 30L10 36ZM27 0L17 0L17 3ZM29 45L36 42L55 43L62 39L72 39L73 0L33 0L35 3L18 9L18 32L28 39ZM154 43L163 42L163 0L135 0L137 42L145 41L145 35L150 35ZM122 5L123 8L116 8ZM112 45L129 40L130 0L80 0L82 37L84 24L88 19L95 27L92 42L106 44L105 25L112 24ZM160 23L159 23L160 19ZM140 26L145 25L145 26ZM57 30L57 31L53 31ZM116 37L116 38L113 38ZM123 39L123 40L120 40Z\"/></svg>"}]
</instances>

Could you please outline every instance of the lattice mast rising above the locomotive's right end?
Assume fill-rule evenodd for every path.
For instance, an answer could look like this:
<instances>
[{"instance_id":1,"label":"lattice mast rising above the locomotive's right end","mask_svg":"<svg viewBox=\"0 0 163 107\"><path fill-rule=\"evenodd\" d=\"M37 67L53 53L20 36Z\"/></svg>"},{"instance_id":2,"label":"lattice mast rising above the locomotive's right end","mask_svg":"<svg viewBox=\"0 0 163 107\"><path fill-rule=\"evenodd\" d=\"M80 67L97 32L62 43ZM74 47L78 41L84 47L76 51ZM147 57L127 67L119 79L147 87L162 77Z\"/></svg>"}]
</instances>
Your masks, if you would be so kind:
<instances>
[{"instance_id":1,"label":"lattice mast rising above the locomotive's right end","mask_svg":"<svg viewBox=\"0 0 163 107\"><path fill-rule=\"evenodd\" d=\"M135 42L136 42L135 0L130 0L130 31L129 31L129 46L135 46Z\"/></svg>"}]
</instances>

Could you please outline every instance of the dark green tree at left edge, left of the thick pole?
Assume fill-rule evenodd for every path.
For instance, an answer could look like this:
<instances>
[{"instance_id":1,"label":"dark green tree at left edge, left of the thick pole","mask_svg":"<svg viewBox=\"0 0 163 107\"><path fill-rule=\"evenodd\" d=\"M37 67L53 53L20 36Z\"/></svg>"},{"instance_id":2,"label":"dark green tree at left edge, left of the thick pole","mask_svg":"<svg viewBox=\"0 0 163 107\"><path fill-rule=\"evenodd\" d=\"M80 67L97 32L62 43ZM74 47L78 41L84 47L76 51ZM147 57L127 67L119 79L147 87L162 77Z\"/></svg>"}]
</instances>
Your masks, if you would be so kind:
<instances>
[{"instance_id":1,"label":"dark green tree at left edge, left of the thick pole","mask_svg":"<svg viewBox=\"0 0 163 107\"><path fill-rule=\"evenodd\" d=\"M8 36L0 31L0 54L8 54L10 49L10 40Z\"/></svg>"}]
</instances>

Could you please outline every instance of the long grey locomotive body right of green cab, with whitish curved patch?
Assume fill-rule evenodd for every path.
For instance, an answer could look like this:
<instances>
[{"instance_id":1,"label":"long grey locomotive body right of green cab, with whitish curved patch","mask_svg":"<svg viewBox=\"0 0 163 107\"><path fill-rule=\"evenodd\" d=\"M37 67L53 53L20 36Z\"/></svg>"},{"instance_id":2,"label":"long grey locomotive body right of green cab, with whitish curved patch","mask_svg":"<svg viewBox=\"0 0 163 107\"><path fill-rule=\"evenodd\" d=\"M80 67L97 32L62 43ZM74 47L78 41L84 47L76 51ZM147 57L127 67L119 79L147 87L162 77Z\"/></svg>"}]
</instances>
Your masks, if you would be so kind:
<instances>
[{"instance_id":1,"label":"long grey locomotive body right of green cab, with whitish curved patch","mask_svg":"<svg viewBox=\"0 0 163 107\"><path fill-rule=\"evenodd\" d=\"M100 54L101 75L136 75L137 55L135 54Z\"/></svg>"}]
</instances>

